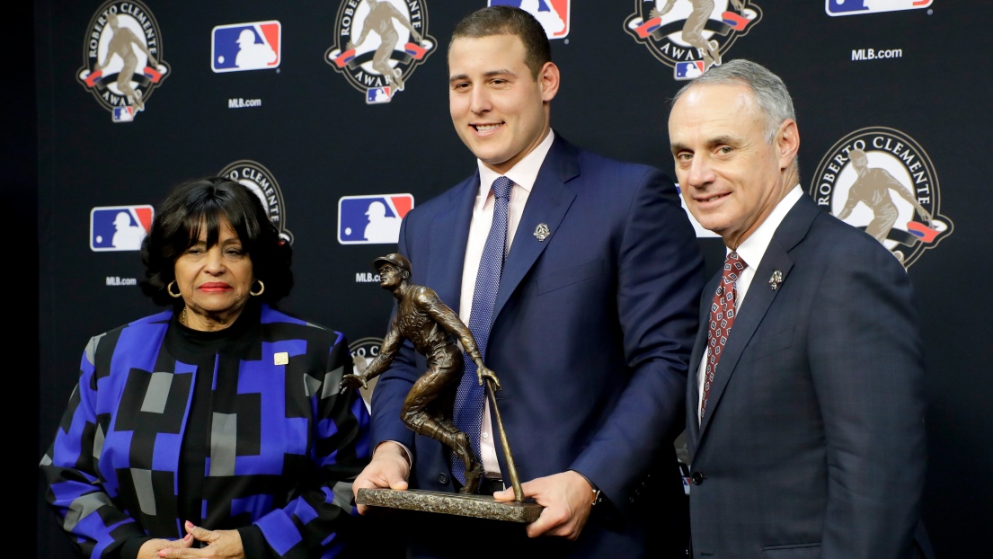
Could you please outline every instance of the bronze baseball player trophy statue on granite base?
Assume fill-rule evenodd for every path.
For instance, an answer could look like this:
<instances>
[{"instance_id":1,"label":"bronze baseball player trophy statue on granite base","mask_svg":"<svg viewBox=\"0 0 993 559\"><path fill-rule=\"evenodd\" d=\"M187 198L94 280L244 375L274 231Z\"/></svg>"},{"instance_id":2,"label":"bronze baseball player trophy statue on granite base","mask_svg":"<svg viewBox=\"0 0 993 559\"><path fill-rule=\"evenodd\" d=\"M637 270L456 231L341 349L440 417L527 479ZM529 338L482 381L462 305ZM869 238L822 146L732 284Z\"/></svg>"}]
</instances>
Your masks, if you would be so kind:
<instances>
[{"instance_id":1,"label":"bronze baseball player trophy statue on granite base","mask_svg":"<svg viewBox=\"0 0 993 559\"><path fill-rule=\"evenodd\" d=\"M460 499L453 493L435 491L359 489L359 502L520 522L533 521L540 514L541 506L534 502L524 502L520 480L510 455L510 445L497 408L495 391L500 389L499 379L483 362L483 355L473 333L455 311L441 302L434 290L410 283L410 261L406 257L395 253L387 254L373 260L372 265L379 272L379 285L390 291L396 299L396 314L390 322L389 332L382 341L379 354L361 373L345 375L341 389L367 387L369 380L386 371L404 340L409 340L414 349L426 357L428 368L404 399L401 419L414 433L439 441L463 461L466 467L466 485L459 493L467 497ZM469 437L452 420L455 394L464 371L463 350L459 349L457 342L462 344L462 349L476 363L480 384L486 383L488 388L490 406L497 420L500 444L506 458L507 474L515 501L500 502L492 496L473 494L479 487L484 472L483 465L477 460L470 445ZM508 506L513 510L508 510Z\"/></svg>"}]
</instances>

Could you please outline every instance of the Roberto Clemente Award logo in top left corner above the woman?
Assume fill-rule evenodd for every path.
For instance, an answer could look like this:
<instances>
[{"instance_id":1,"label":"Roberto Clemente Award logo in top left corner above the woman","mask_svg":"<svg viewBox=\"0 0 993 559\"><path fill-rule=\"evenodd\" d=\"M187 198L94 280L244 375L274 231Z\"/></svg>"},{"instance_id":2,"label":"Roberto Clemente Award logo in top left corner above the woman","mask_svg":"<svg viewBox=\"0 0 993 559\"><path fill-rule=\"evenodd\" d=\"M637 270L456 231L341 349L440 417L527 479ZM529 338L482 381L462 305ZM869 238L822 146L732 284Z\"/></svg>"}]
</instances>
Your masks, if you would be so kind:
<instances>
[{"instance_id":1,"label":"Roberto Clemente Award logo in top left corner above the woman","mask_svg":"<svg viewBox=\"0 0 993 559\"><path fill-rule=\"evenodd\" d=\"M134 120L168 73L159 24L144 4L112 0L96 10L76 77L114 122Z\"/></svg>"}]
</instances>

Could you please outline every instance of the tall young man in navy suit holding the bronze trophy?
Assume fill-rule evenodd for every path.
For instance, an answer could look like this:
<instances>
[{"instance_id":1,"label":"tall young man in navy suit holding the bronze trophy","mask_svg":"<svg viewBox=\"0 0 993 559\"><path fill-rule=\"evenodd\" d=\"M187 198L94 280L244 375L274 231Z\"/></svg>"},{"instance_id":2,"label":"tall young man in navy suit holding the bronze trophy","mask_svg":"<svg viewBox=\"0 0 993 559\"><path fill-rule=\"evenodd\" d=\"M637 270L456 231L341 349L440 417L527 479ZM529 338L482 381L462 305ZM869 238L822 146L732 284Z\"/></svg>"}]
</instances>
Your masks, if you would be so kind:
<instances>
[{"instance_id":1,"label":"tall young man in navy suit holding the bronze trophy","mask_svg":"<svg viewBox=\"0 0 993 559\"><path fill-rule=\"evenodd\" d=\"M502 384L499 411L524 493L545 508L526 526L404 516L409 554L683 555L685 495L672 441L683 430L703 277L677 192L655 169L597 156L552 132L559 70L526 12L494 6L468 16L448 64L452 121L479 171L407 214L399 252L411 281L470 324L495 222L491 186L512 181L485 360ZM377 446L356 491L459 489L450 453L400 421L424 370L407 345L379 378ZM510 500L488 408L481 428L483 491Z\"/></svg>"}]
</instances>

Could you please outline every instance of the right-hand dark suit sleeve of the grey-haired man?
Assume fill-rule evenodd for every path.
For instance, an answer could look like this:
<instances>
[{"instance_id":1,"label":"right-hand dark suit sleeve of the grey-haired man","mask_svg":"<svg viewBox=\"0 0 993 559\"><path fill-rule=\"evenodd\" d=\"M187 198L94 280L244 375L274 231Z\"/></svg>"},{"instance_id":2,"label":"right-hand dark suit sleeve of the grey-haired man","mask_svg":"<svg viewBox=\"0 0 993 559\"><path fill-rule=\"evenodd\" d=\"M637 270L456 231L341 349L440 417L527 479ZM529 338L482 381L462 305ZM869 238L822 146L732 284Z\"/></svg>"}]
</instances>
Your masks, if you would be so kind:
<instances>
[{"instance_id":1,"label":"right-hand dark suit sleeve of the grey-haired man","mask_svg":"<svg viewBox=\"0 0 993 559\"><path fill-rule=\"evenodd\" d=\"M824 558L908 557L920 517L923 359L910 278L870 248L832 258L808 337L827 439Z\"/></svg>"}]
</instances>

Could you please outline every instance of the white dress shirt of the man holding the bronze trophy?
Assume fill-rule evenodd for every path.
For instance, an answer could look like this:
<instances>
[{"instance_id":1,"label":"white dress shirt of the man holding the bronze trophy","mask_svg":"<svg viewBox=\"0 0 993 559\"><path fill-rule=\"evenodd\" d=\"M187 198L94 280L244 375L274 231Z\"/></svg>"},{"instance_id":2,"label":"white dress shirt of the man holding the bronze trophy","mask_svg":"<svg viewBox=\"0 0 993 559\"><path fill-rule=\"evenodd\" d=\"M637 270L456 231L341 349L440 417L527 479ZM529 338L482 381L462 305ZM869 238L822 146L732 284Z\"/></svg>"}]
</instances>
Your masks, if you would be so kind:
<instances>
[{"instance_id":1,"label":"white dress shirt of the man holding the bronze trophy","mask_svg":"<svg viewBox=\"0 0 993 559\"><path fill-rule=\"evenodd\" d=\"M513 242L514 233L517 230L517 223L520 222L520 215L524 212L524 205L527 204L527 197L531 194L534 181L538 178L538 171L541 164L548 155L548 150L552 147L555 134L548 130L548 135L537 145L531 153L524 156L506 174L502 175L513 181L513 188L510 189L510 206L507 209L506 223L506 251L510 251L510 243ZM466 260L462 267L462 297L459 299L459 318L462 322L469 324L469 315L473 310L473 295L476 293L476 276L480 271L480 260L483 258L483 248L487 244L487 237L490 235L490 225L494 220L494 203L496 198L493 195L493 184L500 175L487 167L482 161L477 160L480 168L480 191L476 195L476 204L473 205L473 219L469 224L469 242L466 243ZM485 360L485 359L484 359ZM499 378L499 371L497 373ZM498 436L498 435L497 435ZM499 463L497 462L497 443L494 440L492 423L490 421L490 398L484 400L483 426L480 432L480 451L483 456L483 468L487 472L488 478L499 478Z\"/></svg>"}]
</instances>

